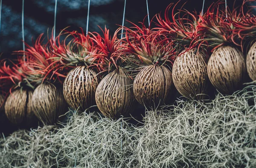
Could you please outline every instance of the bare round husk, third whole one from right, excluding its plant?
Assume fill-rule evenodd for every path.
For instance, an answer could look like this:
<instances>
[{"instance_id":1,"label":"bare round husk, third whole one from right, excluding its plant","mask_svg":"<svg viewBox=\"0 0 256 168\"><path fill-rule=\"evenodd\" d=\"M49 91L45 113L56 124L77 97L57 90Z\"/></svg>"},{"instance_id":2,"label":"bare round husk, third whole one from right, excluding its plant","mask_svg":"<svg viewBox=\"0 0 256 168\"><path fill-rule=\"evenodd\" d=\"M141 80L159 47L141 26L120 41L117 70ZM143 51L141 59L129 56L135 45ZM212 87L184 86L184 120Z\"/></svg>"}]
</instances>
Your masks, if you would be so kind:
<instances>
[{"instance_id":1,"label":"bare round husk, third whole one from right, excluding its plant","mask_svg":"<svg viewBox=\"0 0 256 168\"><path fill-rule=\"evenodd\" d=\"M172 94L172 73L164 66L149 65L134 79L133 91L137 101L145 107L162 105Z\"/></svg>"}]
</instances>

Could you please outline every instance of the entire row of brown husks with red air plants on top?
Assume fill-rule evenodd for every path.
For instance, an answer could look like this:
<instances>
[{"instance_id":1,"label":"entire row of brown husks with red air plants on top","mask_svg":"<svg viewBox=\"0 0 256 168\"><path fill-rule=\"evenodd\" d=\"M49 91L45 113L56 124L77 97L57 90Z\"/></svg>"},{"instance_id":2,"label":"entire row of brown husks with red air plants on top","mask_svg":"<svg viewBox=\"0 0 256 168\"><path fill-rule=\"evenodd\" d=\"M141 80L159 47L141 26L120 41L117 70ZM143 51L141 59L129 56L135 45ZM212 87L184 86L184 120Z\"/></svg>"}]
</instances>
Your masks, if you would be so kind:
<instances>
[{"instance_id":1,"label":"entire row of brown husks with red air plants on top","mask_svg":"<svg viewBox=\"0 0 256 168\"><path fill-rule=\"evenodd\" d=\"M113 119L132 113L137 102L157 108L168 104L174 88L191 99L206 98L211 84L231 94L247 73L256 80L256 17L245 5L251 1L232 11L218 1L204 14L175 14L177 4L170 4L164 18L154 17L155 28L131 23L112 37L107 28L102 36L64 29L42 44L40 35L33 46L14 52L17 63L1 61L1 85L9 83L10 90L1 111L15 124L29 124L35 116L53 124L68 106L97 105Z\"/></svg>"}]
</instances>

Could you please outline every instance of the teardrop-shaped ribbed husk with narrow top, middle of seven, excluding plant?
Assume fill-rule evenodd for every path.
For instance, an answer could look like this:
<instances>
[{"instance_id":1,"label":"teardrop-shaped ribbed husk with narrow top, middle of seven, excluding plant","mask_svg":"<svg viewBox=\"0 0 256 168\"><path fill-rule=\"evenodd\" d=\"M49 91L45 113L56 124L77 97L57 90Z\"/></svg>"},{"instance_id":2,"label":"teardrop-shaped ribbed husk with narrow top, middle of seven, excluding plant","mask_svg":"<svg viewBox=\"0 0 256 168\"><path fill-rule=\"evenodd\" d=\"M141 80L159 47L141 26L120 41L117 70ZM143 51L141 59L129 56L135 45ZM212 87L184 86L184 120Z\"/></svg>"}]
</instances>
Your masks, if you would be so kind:
<instances>
[{"instance_id":1,"label":"teardrop-shaped ribbed husk with narrow top, middle of seven, excluding plant","mask_svg":"<svg viewBox=\"0 0 256 168\"><path fill-rule=\"evenodd\" d=\"M96 89L95 98L99 110L106 117L116 119L131 113L135 98L128 73L119 68L106 75Z\"/></svg>"}]
</instances>

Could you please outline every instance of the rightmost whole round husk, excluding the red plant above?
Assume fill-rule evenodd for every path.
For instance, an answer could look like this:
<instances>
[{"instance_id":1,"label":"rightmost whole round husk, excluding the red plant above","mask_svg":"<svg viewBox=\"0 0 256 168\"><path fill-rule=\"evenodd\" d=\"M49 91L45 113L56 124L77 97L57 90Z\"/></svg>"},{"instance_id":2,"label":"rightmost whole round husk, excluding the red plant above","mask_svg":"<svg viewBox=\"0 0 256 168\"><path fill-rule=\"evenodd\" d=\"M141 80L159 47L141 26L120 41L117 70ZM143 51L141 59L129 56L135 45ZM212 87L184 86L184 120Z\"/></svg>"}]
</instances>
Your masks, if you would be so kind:
<instances>
[{"instance_id":1,"label":"rightmost whole round husk, excluding the red plant above","mask_svg":"<svg viewBox=\"0 0 256 168\"><path fill-rule=\"evenodd\" d=\"M231 94L243 84L246 65L239 49L221 46L208 62L207 72L212 85L222 94Z\"/></svg>"}]
</instances>

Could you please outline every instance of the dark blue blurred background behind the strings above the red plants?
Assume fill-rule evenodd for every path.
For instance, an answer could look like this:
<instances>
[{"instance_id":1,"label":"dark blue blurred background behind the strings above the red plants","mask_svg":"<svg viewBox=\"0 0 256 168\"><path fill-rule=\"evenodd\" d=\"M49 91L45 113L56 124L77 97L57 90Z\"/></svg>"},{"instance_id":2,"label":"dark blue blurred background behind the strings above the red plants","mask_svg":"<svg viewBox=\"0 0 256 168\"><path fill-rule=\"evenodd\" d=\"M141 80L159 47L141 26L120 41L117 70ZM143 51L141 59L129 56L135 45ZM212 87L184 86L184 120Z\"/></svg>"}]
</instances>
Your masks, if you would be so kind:
<instances>
[{"instance_id":1,"label":"dark blue blurred background behind the strings above the red plants","mask_svg":"<svg viewBox=\"0 0 256 168\"><path fill-rule=\"evenodd\" d=\"M106 26L113 34L118 27L116 24L122 24L124 2L124 0L91 0L89 31L101 32L99 25L102 28ZM178 0L148 0L150 19L161 11L163 15L170 3L177 2ZM204 11L212 2L217 2L217 0L205 0ZM230 7L233 6L233 2L233 0L227 0ZM203 0L180 0L177 9L184 3L186 3L184 8L190 12L197 11L199 13L202 10ZM236 0L235 4L240 6L242 0ZM35 39L41 33L44 33L47 37L47 30L52 32L54 8L55 0L24 0L24 35L26 43L31 45L32 37ZM67 26L70 26L69 30L79 30L81 27L85 32L87 8L88 0L58 0L56 35ZM23 49L21 13L22 0L2 0L0 25L0 53L3 53L2 58L15 57L15 55L11 55L12 52ZM146 0L127 0L125 20L138 23L143 21L146 15ZM148 25L147 19L145 24ZM124 26L131 26L131 24L125 21ZM141 111L141 113L144 113L144 111ZM14 125L0 123L0 133L3 131L6 135L17 128Z\"/></svg>"}]
</instances>

